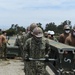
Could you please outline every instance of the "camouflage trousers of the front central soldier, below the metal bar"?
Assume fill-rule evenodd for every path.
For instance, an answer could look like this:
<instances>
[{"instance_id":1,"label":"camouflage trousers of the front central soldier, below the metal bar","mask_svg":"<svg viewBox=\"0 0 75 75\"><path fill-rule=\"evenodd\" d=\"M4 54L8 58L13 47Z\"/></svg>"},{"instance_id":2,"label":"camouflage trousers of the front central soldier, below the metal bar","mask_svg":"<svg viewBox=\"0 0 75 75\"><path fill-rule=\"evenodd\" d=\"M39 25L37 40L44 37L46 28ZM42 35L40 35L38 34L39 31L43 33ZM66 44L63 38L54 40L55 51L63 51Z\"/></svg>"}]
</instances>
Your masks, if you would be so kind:
<instances>
[{"instance_id":1,"label":"camouflage trousers of the front central soldier, below the metal bar","mask_svg":"<svg viewBox=\"0 0 75 75\"><path fill-rule=\"evenodd\" d=\"M40 61L25 62L25 75L47 75L46 65Z\"/></svg>"}]
</instances>

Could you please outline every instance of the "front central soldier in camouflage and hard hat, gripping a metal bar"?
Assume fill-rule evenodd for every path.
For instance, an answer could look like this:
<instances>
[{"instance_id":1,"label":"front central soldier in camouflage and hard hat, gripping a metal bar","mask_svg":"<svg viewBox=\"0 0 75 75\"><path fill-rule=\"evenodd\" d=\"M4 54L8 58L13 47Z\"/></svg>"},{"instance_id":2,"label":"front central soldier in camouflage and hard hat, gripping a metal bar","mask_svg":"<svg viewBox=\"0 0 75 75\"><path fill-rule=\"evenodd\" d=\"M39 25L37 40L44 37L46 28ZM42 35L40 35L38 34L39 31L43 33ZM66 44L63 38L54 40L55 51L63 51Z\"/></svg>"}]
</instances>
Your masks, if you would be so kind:
<instances>
[{"instance_id":1,"label":"front central soldier in camouflage and hard hat, gripping a metal bar","mask_svg":"<svg viewBox=\"0 0 75 75\"><path fill-rule=\"evenodd\" d=\"M35 59L45 58L45 55L49 54L49 40L43 37L43 31L40 27L34 28L33 37L26 40L24 51L29 57ZM47 75L44 62L30 61L26 65L26 75Z\"/></svg>"}]
</instances>

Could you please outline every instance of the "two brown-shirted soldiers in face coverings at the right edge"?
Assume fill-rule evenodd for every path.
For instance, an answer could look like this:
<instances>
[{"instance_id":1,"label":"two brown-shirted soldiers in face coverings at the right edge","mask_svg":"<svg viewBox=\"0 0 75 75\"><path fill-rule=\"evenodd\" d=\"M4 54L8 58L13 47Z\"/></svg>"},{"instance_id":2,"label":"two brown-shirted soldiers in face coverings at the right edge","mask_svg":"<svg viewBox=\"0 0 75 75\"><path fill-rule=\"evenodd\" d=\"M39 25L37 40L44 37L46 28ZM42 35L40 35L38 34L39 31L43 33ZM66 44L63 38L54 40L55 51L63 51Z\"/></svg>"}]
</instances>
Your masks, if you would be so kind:
<instances>
[{"instance_id":1,"label":"two brown-shirted soldiers in face coverings at the right edge","mask_svg":"<svg viewBox=\"0 0 75 75\"><path fill-rule=\"evenodd\" d=\"M75 26L71 29L69 25L65 25L64 33L59 36L59 42L75 47Z\"/></svg>"}]
</instances>

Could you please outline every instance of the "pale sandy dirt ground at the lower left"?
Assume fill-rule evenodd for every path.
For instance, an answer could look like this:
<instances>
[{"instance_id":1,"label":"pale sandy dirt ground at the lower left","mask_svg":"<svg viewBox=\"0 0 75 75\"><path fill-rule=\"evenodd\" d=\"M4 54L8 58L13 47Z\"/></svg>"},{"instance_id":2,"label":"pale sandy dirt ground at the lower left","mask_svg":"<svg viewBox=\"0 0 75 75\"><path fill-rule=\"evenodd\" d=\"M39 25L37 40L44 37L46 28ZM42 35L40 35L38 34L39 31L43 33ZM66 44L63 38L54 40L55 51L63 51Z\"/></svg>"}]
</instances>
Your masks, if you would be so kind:
<instances>
[{"instance_id":1,"label":"pale sandy dirt ground at the lower left","mask_svg":"<svg viewBox=\"0 0 75 75\"><path fill-rule=\"evenodd\" d=\"M24 63L22 60L1 60L0 59L0 75L25 75Z\"/></svg>"}]
</instances>

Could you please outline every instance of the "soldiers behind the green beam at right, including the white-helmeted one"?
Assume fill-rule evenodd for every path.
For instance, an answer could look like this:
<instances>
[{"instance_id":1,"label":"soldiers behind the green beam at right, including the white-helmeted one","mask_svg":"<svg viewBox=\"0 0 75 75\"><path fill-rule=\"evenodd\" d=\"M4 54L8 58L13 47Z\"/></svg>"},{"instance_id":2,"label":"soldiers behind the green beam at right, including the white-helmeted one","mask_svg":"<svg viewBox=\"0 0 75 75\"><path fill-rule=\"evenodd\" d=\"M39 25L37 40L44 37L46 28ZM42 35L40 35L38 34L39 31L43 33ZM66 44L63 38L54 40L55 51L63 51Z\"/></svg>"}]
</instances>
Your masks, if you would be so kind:
<instances>
[{"instance_id":1,"label":"soldiers behind the green beam at right, including the white-helmeted one","mask_svg":"<svg viewBox=\"0 0 75 75\"><path fill-rule=\"evenodd\" d=\"M58 39L54 37L54 34L52 34L50 30L48 32L44 32L44 34L46 38L51 40L55 40L70 46L75 46L75 26L73 26L71 29L69 25L65 25L63 30L64 32L58 36Z\"/></svg>"}]
</instances>

